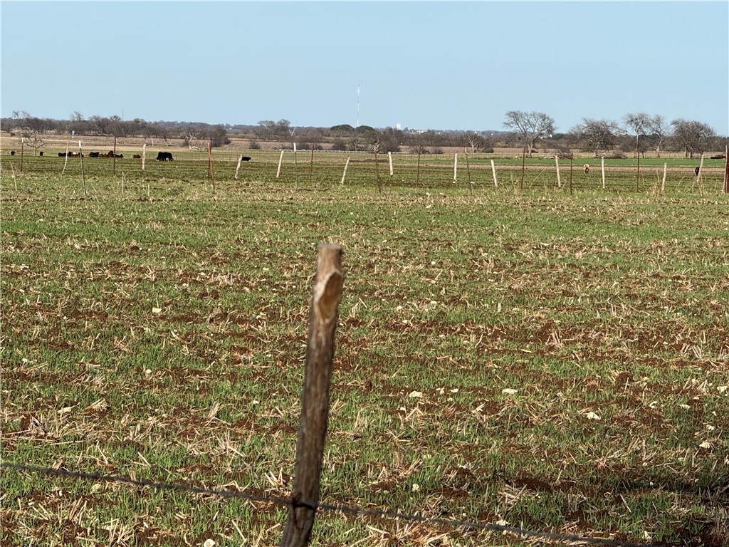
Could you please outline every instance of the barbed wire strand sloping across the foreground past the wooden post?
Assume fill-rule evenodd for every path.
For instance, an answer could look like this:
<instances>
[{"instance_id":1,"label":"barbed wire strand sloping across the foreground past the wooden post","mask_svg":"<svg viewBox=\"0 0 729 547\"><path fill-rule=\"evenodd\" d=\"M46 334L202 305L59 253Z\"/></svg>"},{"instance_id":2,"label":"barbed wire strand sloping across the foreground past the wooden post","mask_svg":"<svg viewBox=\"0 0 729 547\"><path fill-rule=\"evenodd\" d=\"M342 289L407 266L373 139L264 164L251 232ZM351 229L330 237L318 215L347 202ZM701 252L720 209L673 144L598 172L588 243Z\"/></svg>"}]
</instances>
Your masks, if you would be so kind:
<instances>
[{"instance_id":1,"label":"barbed wire strand sloping across the foreground past the wooden post","mask_svg":"<svg viewBox=\"0 0 729 547\"><path fill-rule=\"evenodd\" d=\"M158 490L173 490L176 492L187 492L190 494L203 494L208 496L217 496L224 498L239 498L260 503L272 503L273 505L288 506L295 503L300 507L309 508L313 511L340 511L343 513L351 513L362 516L376 516L385 519L403 520L422 522L424 524L440 524L442 526L450 526L453 528L465 528L469 530L479 531L488 530L490 532L507 532L515 535L529 536L533 538L544 538L548 540L569 541L572 543L588 543L592 545L607 547L658 547L652 543L631 543L622 540L610 540L605 538L585 538L579 535L558 534L555 532L539 532L524 528L516 528L502 526L501 524L482 524L478 522L457 521L453 519L429 518L418 514L398 513L397 511L382 511L377 509L364 509L359 507L351 507L349 505L341 505L338 503L307 503L302 501L293 501L292 498L262 496L256 494L248 494L234 490L222 490L216 488L203 488L200 486L192 486L190 484L171 484L155 482L146 478L131 478L115 475L101 475L99 473L84 473L82 471L69 471L63 468L40 468L35 465L23 465L10 462L0 462L0 468L14 469L18 471L27 471L30 473L41 473L44 475L63 476L68 478L80 478L87 481L111 482L117 484L129 484L131 486L149 486Z\"/></svg>"}]
</instances>

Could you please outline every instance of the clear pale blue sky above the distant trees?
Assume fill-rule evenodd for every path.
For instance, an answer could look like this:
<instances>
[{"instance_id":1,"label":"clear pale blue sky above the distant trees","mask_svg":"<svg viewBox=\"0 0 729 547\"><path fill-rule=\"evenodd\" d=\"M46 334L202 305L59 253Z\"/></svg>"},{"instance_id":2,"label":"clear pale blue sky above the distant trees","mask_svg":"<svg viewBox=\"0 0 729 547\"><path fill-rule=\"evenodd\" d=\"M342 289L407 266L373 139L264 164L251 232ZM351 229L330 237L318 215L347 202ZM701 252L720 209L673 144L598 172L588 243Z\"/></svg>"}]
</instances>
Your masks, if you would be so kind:
<instances>
[{"instance_id":1,"label":"clear pale blue sky above the distant trees","mask_svg":"<svg viewBox=\"0 0 729 547\"><path fill-rule=\"evenodd\" d=\"M2 1L1 115L729 135L729 2ZM359 118L358 88L359 83Z\"/></svg>"}]
</instances>

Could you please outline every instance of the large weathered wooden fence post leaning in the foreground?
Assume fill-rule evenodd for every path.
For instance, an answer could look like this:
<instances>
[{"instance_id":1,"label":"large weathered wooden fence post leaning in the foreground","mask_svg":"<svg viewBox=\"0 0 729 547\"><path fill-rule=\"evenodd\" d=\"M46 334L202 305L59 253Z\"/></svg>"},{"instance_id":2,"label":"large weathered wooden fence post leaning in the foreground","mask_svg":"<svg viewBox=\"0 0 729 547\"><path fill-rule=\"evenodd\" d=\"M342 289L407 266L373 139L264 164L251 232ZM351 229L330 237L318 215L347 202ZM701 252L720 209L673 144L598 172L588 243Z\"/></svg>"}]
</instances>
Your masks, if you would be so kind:
<instances>
[{"instance_id":1,"label":"large weathered wooden fence post leaning in the foreground","mask_svg":"<svg viewBox=\"0 0 729 547\"><path fill-rule=\"evenodd\" d=\"M329 390L334 358L334 331L344 277L342 249L319 245L316 282L309 311L306 368L301 394L301 418L296 446L294 491L289 519L279 547L307 546L311 538L316 505L319 503L319 475L324 459L324 438L329 417Z\"/></svg>"}]
</instances>

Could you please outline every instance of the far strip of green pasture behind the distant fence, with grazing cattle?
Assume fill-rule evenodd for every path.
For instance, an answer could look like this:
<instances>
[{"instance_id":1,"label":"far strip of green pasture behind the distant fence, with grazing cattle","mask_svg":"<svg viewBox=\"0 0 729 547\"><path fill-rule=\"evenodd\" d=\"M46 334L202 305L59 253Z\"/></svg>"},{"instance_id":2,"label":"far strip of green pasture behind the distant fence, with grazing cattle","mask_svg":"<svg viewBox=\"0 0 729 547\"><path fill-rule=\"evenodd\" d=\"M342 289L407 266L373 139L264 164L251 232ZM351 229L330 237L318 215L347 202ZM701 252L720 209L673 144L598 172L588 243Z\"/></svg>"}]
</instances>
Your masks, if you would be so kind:
<instances>
[{"instance_id":1,"label":"far strip of green pasture behind the distant fence, with grazing cattle","mask_svg":"<svg viewBox=\"0 0 729 547\"><path fill-rule=\"evenodd\" d=\"M106 150L102 147L100 150ZM176 183L198 183L208 180L207 152L170 149L175 157L172 162L157 162L156 152L147 151L146 169L142 171L141 160L131 156L141 150L123 150L125 158L58 158L57 150L47 150L43 158L26 155L23 160L23 174L41 176L43 179L63 180L78 179L81 181L82 166L87 181L94 185L97 179L104 180L112 169L118 176L118 187L125 180L154 185L161 182L162 188L174 192L179 189ZM61 150L61 151L65 151ZM295 188L320 190L338 185L342 179L347 158L348 166L346 185L375 186L378 176L383 187L405 187L405 190L421 188L437 189L453 183L453 163L451 154L422 155L418 167L418 156L411 154L394 154L392 156L394 176L389 176L387 155L355 154L346 152L315 152L313 163L311 151L300 150L295 155L292 150L284 152L281 174L276 179L276 171L280 152L271 150L251 150L244 152L253 159L243 162L238 174L240 182L264 182L270 184L292 184ZM240 152L215 151L213 154L213 178L217 181L232 181ZM5 169L9 175L20 174L20 159L15 156L4 157ZM473 185L474 190L482 191L494 188L491 173L491 160L494 160L497 182L500 187L518 190L541 190L548 192L557 190L557 176L554 158L526 158L522 176L522 158L517 156L495 156L489 154L464 155L458 157L458 182L461 185ZM569 190L572 180L574 191L600 191L608 193L639 193L642 195L658 195L663 179L663 164L667 164L665 195L716 195L722 190L724 177L724 160L703 161L701 179L696 180L694 169L698 159L685 158L646 158L640 163L638 189L636 191L635 159L605 161L605 188L602 189L601 161L599 158L575 158L572 162L572 176L569 160L560 160L561 185ZM582 172L582 165L590 165L590 174ZM63 171L63 166L66 166ZM63 171L63 177L61 172ZM106 184L106 183L105 183ZM65 188L66 185L63 185ZM80 186L79 186L80 190Z\"/></svg>"}]
</instances>

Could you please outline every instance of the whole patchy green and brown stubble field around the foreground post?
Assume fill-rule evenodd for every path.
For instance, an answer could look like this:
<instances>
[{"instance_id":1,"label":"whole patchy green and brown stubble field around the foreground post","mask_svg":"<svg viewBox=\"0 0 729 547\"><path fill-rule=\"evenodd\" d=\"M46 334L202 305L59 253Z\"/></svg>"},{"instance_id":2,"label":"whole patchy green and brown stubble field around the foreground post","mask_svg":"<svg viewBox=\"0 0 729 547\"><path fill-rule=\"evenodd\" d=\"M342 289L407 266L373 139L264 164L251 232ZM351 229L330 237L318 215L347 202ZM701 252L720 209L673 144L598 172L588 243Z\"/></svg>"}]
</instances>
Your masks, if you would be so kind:
<instances>
[{"instance_id":1,"label":"whole patchy green and brown stubble field around the foreground post","mask_svg":"<svg viewBox=\"0 0 729 547\"><path fill-rule=\"evenodd\" d=\"M189 154L189 155L188 155ZM125 156L127 152L125 152ZM131 154L129 154L131 155ZM729 198L630 163L252 151L3 158L6 462L286 497L319 241L343 246L321 501L617 538L729 536ZM380 157L381 160L386 157ZM539 163L541 162L541 164ZM542 165L544 164L544 165ZM606 160L609 164L609 160ZM597 164L599 166L599 162ZM643 166L643 162L642 162ZM550 167L550 169L553 169ZM642 168L643 172L643 168ZM15 175L15 176L13 176ZM298 190L296 187L298 185ZM2 545L272 545L285 509L3 470ZM532 545L324 511L313 544ZM545 544L560 544L545 540Z\"/></svg>"}]
</instances>

